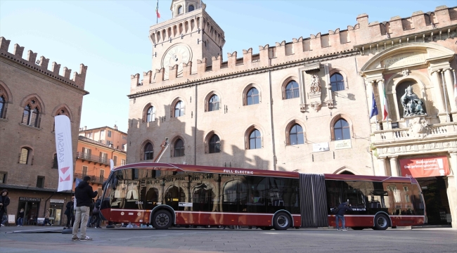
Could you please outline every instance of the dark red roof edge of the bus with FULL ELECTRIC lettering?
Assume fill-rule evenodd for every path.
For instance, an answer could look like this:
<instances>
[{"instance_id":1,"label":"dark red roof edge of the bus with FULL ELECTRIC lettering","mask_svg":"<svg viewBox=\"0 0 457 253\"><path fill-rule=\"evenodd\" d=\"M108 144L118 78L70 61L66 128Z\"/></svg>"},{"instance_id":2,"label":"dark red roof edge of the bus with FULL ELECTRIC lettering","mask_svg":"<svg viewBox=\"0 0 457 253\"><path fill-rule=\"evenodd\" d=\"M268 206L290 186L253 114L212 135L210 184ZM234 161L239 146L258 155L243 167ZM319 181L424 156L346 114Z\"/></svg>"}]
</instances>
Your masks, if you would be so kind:
<instances>
[{"instance_id":1,"label":"dark red roof edge of the bus with FULL ELECTRIC lettering","mask_svg":"<svg viewBox=\"0 0 457 253\"><path fill-rule=\"evenodd\" d=\"M216 174L236 174L236 175L251 175L251 176L277 176L283 178L298 179L301 172L292 171L272 171L266 169L242 169L233 167L213 167L188 164L169 164L162 162L137 162L132 164L122 165L113 171L120 169L157 169L167 171L183 171L183 172L200 172L200 173L216 173ZM417 183L416 179L404 176L370 176L370 175L347 175L347 174L324 174L326 179L330 180L345 180L345 181L387 181L396 183Z\"/></svg>"}]
</instances>

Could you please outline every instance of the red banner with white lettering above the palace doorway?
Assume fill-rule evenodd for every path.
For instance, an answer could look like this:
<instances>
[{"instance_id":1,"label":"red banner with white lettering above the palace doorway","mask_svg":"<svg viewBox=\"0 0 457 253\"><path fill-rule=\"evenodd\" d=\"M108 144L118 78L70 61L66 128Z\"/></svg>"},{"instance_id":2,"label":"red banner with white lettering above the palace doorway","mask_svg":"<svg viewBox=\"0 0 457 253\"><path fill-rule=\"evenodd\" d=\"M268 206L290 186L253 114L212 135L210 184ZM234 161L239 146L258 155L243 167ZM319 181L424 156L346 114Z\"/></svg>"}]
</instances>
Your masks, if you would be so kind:
<instances>
[{"instance_id":1,"label":"red banner with white lettering above the palace doorway","mask_svg":"<svg viewBox=\"0 0 457 253\"><path fill-rule=\"evenodd\" d=\"M424 157L400 159L401 176L412 176L414 178L427 176L449 175L449 164L447 157Z\"/></svg>"}]
</instances>

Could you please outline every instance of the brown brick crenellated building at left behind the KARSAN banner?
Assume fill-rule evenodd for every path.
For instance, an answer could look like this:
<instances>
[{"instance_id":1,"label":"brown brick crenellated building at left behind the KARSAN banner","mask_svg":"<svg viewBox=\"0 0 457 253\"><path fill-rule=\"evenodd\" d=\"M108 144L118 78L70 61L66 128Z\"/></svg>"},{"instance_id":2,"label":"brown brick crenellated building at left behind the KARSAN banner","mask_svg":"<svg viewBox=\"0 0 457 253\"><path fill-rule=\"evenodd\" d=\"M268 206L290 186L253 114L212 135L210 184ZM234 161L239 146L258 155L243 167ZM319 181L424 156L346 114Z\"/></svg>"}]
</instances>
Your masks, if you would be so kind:
<instances>
[{"instance_id":1,"label":"brown brick crenellated building at left behind the KARSAN banner","mask_svg":"<svg viewBox=\"0 0 457 253\"><path fill-rule=\"evenodd\" d=\"M71 70L0 37L0 189L8 189L8 215L25 209L25 224L36 223L50 209L51 221L59 225L70 192L57 193L58 166L54 117L67 115L76 150L87 67L70 79ZM60 75L62 73L62 75Z\"/></svg>"}]
</instances>

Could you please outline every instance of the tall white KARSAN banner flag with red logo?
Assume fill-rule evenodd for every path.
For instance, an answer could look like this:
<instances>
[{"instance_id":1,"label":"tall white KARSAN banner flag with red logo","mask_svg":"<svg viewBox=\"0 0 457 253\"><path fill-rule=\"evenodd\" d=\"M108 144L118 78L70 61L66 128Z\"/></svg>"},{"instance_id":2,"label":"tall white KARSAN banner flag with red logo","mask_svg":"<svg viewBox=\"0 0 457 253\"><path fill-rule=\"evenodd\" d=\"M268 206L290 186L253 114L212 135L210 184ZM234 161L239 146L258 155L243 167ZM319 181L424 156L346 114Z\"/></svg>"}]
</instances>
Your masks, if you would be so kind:
<instances>
[{"instance_id":1,"label":"tall white KARSAN banner flag with red logo","mask_svg":"<svg viewBox=\"0 0 457 253\"><path fill-rule=\"evenodd\" d=\"M56 152L59 171L57 191L73 188L73 151L70 119L65 115L54 117L56 124Z\"/></svg>"}]
</instances>

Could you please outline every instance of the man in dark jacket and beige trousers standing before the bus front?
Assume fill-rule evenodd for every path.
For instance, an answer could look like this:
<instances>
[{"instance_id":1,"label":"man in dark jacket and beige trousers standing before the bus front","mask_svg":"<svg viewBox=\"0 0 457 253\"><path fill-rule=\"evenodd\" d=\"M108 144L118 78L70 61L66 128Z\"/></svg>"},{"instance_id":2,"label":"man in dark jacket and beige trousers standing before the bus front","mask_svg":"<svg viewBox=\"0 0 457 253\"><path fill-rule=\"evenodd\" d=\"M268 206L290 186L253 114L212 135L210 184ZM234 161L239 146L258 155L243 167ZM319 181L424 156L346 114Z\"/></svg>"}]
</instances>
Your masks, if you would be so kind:
<instances>
[{"instance_id":1,"label":"man in dark jacket and beige trousers standing before the bus front","mask_svg":"<svg viewBox=\"0 0 457 253\"><path fill-rule=\"evenodd\" d=\"M89 238L89 236L86 235L86 223L89 219L89 209L91 208L92 198L96 197L98 193L97 191L94 192L94 190L92 190L92 187L89 186L90 180L90 176L84 176L83 181L79 183L79 185L75 188L76 213L75 223L73 224L72 241L92 240L92 238ZM80 238L78 238L79 223L82 224Z\"/></svg>"}]
</instances>

